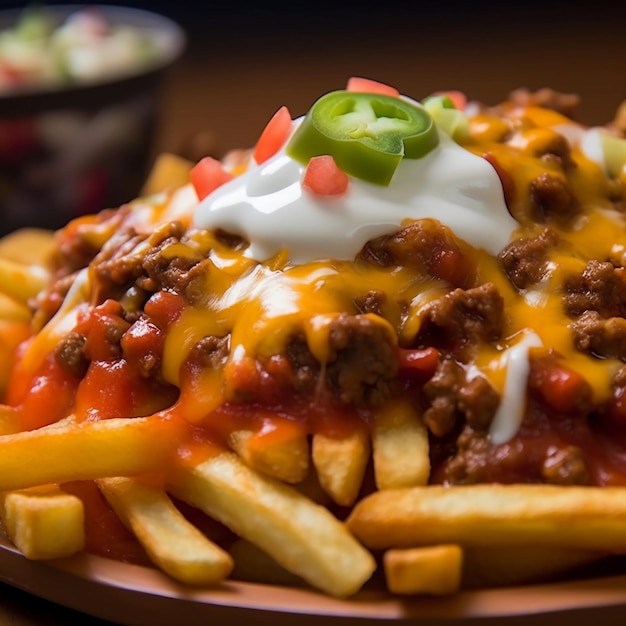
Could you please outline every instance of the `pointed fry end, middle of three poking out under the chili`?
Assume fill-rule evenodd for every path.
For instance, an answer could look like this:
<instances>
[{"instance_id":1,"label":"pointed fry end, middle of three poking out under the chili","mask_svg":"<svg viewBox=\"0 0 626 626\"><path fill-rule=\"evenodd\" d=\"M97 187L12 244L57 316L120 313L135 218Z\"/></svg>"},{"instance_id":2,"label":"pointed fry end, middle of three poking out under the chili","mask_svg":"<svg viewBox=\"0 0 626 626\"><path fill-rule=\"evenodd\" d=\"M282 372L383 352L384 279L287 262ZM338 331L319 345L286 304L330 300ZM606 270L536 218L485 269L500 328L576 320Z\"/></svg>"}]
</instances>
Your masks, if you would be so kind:
<instances>
[{"instance_id":1,"label":"pointed fry end, middle of three poking out under the chili","mask_svg":"<svg viewBox=\"0 0 626 626\"><path fill-rule=\"evenodd\" d=\"M359 495L370 455L370 441L363 431L342 438L313 436L313 465L320 485L341 506L354 504Z\"/></svg>"}]
</instances>

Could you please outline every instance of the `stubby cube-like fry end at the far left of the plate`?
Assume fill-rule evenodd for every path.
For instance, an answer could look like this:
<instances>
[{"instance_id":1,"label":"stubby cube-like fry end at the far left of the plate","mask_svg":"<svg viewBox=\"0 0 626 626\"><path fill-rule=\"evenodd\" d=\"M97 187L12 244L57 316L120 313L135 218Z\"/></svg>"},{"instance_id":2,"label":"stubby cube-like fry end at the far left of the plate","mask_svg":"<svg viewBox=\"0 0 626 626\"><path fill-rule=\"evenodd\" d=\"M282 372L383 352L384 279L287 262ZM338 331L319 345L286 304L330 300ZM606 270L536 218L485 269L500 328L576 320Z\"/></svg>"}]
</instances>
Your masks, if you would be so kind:
<instances>
[{"instance_id":1,"label":"stubby cube-like fry end at the far left of the plate","mask_svg":"<svg viewBox=\"0 0 626 626\"><path fill-rule=\"evenodd\" d=\"M2 494L9 539L28 559L59 559L85 546L83 503L56 485Z\"/></svg>"}]
</instances>

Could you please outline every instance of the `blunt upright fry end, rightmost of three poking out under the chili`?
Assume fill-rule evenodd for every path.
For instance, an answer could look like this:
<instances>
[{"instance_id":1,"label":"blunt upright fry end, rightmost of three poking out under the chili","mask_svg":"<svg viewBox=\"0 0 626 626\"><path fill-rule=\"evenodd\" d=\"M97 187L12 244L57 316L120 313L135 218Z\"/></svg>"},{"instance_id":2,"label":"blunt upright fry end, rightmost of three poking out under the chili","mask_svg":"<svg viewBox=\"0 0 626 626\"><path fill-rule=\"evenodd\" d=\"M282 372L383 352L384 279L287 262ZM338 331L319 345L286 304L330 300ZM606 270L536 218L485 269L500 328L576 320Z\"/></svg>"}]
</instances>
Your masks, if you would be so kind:
<instances>
[{"instance_id":1,"label":"blunt upright fry end, rightmost of three poking out under the chili","mask_svg":"<svg viewBox=\"0 0 626 626\"><path fill-rule=\"evenodd\" d=\"M378 489L428 484L428 430L413 404L397 399L377 411L372 448Z\"/></svg>"}]
</instances>

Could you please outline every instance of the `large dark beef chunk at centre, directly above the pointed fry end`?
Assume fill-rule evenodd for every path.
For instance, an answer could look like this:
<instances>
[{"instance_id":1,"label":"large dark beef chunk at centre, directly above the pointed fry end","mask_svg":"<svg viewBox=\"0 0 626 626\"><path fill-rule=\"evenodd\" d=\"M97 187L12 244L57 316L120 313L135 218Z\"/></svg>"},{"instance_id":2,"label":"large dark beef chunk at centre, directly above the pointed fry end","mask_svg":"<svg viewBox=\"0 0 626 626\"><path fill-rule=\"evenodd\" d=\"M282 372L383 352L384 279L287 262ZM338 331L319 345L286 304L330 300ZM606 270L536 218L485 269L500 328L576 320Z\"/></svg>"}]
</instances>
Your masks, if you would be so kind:
<instances>
[{"instance_id":1,"label":"large dark beef chunk at centre, directly above the pointed fry end","mask_svg":"<svg viewBox=\"0 0 626 626\"><path fill-rule=\"evenodd\" d=\"M398 370L395 337L387 326L362 315L341 314L328 333L326 383L341 404L378 405Z\"/></svg>"}]
</instances>

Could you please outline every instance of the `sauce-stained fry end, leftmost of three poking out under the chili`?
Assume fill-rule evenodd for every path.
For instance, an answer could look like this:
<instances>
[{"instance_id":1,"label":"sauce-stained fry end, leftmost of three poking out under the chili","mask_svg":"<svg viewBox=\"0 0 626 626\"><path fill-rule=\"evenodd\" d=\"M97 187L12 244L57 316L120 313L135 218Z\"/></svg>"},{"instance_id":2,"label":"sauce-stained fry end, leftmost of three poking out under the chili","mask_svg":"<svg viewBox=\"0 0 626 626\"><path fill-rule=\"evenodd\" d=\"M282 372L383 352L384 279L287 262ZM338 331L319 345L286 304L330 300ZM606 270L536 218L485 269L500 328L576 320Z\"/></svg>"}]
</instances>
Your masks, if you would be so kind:
<instances>
[{"instance_id":1,"label":"sauce-stained fry end, leftmost of three poking out under the chili","mask_svg":"<svg viewBox=\"0 0 626 626\"><path fill-rule=\"evenodd\" d=\"M230 447L252 468L287 483L299 483L309 471L309 442L295 430L287 437L264 436L251 430L235 430Z\"/></svg>"}]
</instances>

